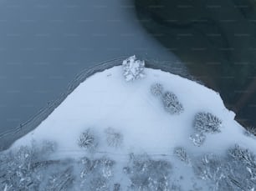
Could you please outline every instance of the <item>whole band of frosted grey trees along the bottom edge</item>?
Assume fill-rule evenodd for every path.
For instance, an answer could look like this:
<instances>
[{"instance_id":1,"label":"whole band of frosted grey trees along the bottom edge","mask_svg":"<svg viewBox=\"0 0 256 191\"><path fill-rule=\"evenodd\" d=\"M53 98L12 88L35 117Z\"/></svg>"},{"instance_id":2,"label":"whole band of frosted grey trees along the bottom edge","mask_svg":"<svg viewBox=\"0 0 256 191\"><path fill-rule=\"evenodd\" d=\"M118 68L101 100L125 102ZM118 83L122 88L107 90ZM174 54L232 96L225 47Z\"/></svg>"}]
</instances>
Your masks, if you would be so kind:
<instances>
[{"instance_id":1,"label":"whole band of frosted grey trees along the bottom edge","mask_svg":"<svg viewBox=\"0 0 256 191\"><path fill-rule=\"evenodd\" d=\"M122 176L127 185L115 182L116 162L107 157L50 160L54 143L21 147L0 154L0 189L16 190L182 190L172 184L172 163L147 154L131 154ZM247 148L234 145L225 155L212 153L193 156L185 148L173 153L189 163L196 177L207 183L207 190L254 190L256 156ZM172 160L172 158L170 158ZM196 179L194 180L196 181Z\"/></svg>"}]
</instances>

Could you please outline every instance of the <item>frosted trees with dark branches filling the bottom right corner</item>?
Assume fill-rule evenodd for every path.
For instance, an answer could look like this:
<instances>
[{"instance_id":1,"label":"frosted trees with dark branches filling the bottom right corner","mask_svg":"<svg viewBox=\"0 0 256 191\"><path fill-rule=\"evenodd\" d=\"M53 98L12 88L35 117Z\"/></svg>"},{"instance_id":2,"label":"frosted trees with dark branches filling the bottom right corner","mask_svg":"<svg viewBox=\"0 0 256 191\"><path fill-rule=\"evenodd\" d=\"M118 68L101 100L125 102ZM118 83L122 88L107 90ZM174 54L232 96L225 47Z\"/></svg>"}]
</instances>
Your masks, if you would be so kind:
<instances>
[{"instance_id":1,"label":"frosted trees with dark branches filling the bottom right corner","mask_svg":"<svg viewBox=\"0 0 256 191\"><path fill-rule=\"evenodd\" d=\"M195 174L207 181L212 190L254 190L256 188L255 155L235 145L224 156L205 154L192 165Z\"/></svg>"}]
</instances>

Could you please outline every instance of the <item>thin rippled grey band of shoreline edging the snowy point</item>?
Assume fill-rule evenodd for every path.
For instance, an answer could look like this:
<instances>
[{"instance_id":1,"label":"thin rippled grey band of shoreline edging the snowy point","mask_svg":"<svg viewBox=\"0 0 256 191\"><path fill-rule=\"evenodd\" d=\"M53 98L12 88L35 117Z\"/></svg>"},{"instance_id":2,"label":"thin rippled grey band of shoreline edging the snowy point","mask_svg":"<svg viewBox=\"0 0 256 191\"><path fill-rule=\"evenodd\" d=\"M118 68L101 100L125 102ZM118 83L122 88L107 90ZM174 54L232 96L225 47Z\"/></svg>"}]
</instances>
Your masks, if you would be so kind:
<instances>
[{"instance_id":1,"label":"thin rippled grey band of shoreline edging the snowy point","mask_svg":"<svg viewBox=\"0 0 256 191\"><path fill-rule=\"evenodd\" d=\"M18 138L23 137L25 134L38 127L38 125L42 123L44 119L48 118L48 116L54 112L54 109L57 108L64 101L64 99L67 98L69 94L79 86L80 83L83 83L84 80L95 73L100 73L105 69L120 65L125 58L126 57L115 58L103 63L96 63L90 68L84 68L84 70L77 74L76 77L68 84L66 91L61 93L59 98L50 101L44 108L41 108L38 113L33 115L32 118L29 118L28 121L20 124L17 128L0 134L0 151L8 149ZM177 74L183 78L196 81L195 78L192 78L192 76L188 74L187 69L184 68L183 64L181 63L172 63L172 61L161 62L156 60L144 60L146 62L146 68L161 69L162 71Z\"/></svg>"}]
</instances>

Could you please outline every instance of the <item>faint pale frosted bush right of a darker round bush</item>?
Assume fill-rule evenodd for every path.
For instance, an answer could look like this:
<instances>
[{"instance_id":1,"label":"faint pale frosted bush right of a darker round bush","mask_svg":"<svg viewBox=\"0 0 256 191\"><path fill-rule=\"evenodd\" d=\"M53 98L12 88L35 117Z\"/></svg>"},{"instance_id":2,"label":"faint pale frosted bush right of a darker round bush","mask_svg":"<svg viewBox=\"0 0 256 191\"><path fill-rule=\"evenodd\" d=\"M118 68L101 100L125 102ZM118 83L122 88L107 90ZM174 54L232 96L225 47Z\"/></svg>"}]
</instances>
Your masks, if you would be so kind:
<instances>
[{"instance_id":1,"label":"faint pale frosted bush right of a darker round bush","mask_svg":"<svg viewBox=\"0 0 256 191\"><path fill-rule=\"evenodd\" d=\"M117 148L123 142L123 135L116 131L114 128L105 129L106 133L106 142L110 147Z\"/></svg>"}]
</instances>

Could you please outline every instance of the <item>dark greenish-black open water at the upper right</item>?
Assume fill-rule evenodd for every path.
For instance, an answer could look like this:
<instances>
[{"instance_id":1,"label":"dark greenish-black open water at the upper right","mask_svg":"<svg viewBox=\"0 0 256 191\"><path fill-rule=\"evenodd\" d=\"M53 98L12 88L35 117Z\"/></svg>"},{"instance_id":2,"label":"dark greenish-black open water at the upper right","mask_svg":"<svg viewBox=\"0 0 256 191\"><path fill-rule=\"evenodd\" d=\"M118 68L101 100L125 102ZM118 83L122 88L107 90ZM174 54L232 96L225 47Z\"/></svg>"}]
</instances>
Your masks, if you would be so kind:
<instances>
[{"instance_id":1,"label":"dark greenish-black open water at the upper right","mask_svg":"<svg viewBox=\"0 0 256 191\"><path fill-rule=\"evenodd\" d=\"M141 24L256 127L256 1L136 0Z\"/></svg>"}]
</instances>

